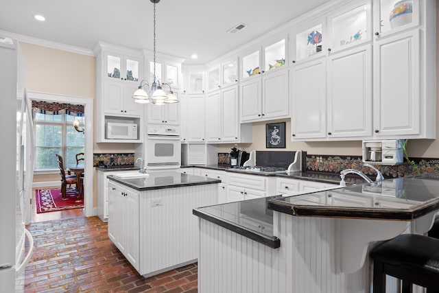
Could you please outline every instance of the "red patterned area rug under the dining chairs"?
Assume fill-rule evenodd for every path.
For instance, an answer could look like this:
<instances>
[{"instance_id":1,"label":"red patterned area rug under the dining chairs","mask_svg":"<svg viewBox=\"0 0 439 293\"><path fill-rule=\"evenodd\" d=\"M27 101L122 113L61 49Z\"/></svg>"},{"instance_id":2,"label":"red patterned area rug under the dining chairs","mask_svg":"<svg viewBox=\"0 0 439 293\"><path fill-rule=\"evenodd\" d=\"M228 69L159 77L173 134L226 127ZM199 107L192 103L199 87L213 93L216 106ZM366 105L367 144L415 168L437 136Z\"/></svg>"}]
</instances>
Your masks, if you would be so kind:
<instances>
[{"instance_id":1,"label":"red patterned area rug under the dining chairs","mask_svg":"<svg viewBox=\"0 0 439 293\"><path fill-rule=\"evenodd\" d=\"M66 209L84 208L84 199L78 199L72 191L67 189L67 198L62 199L61 189L36 189L36 213L48 213L49 211L64 211Z\"/></svg>"}]
</instances>

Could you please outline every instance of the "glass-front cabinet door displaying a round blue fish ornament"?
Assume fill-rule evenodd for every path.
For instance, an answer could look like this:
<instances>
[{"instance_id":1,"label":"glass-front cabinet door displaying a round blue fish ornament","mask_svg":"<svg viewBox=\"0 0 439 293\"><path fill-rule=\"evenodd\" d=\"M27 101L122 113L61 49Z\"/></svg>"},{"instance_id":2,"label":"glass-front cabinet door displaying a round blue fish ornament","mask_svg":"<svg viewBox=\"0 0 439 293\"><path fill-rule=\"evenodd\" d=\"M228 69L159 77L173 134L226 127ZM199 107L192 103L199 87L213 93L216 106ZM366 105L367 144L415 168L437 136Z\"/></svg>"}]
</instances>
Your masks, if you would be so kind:
<instances>
[{"instance_id":1,"label":"glass-front cabinet door displaying a round blue fish ornament","mask_svg":"<svg viewBox=\"0 0 439 293\"><path fill-rule=\"evenodd\" d=\"M292 62L300 62L324 56L324 35L326 27L322 22L309 24L292 34ZM326 41L326 40L325 40Z\"/></svg>"}]
</instances>

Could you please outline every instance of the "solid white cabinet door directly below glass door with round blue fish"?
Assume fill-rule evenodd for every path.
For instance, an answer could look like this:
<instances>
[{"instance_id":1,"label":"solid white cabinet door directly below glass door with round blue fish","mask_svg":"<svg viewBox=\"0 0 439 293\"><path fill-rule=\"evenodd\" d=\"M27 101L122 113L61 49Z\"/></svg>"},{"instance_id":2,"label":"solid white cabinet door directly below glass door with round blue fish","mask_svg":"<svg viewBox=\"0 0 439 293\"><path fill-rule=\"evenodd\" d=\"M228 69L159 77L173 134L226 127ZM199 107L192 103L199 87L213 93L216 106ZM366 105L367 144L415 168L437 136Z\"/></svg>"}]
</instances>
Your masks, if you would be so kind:
<instances>
[{"instance_id":1,"label":"solid white cabinet door directly below glass door with round blue fish","mask_svg":"<svg viewBox=\"0 0 439 293\"><path fill-rule=\"evenodd\" d=\"M292 68L292 140L327 136L326 58Z\"/></svg>"}]
</instances>

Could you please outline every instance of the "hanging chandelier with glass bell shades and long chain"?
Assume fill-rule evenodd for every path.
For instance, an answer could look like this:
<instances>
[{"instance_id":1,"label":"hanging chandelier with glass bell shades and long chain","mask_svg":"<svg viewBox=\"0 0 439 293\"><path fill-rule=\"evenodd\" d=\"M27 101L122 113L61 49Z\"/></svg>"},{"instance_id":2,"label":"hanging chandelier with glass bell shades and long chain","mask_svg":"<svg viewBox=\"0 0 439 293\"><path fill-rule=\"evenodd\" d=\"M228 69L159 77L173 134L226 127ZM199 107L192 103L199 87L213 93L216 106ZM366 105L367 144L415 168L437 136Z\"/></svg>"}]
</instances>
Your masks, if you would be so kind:
<instances>
[{"instance_id":1,"label":"hanging chandelier with glass bell shades and long chain","mask_svg":"<svg viewBox=\"0 0 439 293\"><path fill-rule=\"evenodd\" d=\"M162 86L169 86L169 92L165 93L165 91L163 91L162 89L160 81L156 80L156 3L160 2L160 0L150 1L154 3L154 81L150 86L147 80L142 80L140 82L139 88L132 95L132 98L134 99L134 102L140 104L148 104L150 102L154 105L163 105L165 103L178 103L178 99L176 95L174 95L174 93L172 92L171 86L166 83L162 84ZM150 92L151 97L150 95L148 95L147 91L143 89L145 86L147 86L147 91Z\"/></svg>"}]
</instances>

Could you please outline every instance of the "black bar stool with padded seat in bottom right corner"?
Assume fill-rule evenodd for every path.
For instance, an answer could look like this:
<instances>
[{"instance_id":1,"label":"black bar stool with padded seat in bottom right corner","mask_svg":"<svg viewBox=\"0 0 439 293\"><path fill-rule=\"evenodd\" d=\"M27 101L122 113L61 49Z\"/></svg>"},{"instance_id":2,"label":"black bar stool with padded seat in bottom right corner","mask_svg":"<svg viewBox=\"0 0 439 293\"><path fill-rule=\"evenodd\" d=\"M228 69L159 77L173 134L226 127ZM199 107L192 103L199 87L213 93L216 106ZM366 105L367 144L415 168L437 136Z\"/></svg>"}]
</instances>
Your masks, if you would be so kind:
<instances>
[{"instance_id":1,"label":"black bar stool with padded seat in bottom right corner","mask_svg":"<svg viewBox=\"0 0 439 293\"><path fill-rule=\"evenodd\" d=\"M385 275L403 281L403 293L412 285L439 293L439 239L402 234L370 250L374 260L373 293L385 293Z\"/></svg>"}]
</instances>

